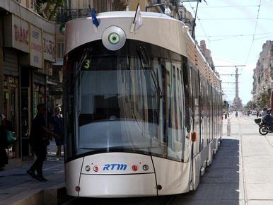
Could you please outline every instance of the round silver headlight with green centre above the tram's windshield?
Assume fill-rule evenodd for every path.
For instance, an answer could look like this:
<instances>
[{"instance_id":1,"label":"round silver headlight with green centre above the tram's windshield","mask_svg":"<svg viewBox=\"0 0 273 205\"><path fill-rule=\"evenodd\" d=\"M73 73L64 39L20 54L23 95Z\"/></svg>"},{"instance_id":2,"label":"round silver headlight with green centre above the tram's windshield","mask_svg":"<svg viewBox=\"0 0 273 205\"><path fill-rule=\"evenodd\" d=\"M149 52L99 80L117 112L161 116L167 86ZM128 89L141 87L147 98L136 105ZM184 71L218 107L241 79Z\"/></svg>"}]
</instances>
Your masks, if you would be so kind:
<instances>
[{"instance_id":1,"label":"round silver headlight with green centre above the tram's windshield","mask_svg":"<svg viewBox=\"0 0 273 205\"><path fill-rule=\"evenodd\" d=\"M103 31L103 45L112 51L122 48L126 41L124 31L117 26L110 26Z\"/></svg>"}]
</instances>

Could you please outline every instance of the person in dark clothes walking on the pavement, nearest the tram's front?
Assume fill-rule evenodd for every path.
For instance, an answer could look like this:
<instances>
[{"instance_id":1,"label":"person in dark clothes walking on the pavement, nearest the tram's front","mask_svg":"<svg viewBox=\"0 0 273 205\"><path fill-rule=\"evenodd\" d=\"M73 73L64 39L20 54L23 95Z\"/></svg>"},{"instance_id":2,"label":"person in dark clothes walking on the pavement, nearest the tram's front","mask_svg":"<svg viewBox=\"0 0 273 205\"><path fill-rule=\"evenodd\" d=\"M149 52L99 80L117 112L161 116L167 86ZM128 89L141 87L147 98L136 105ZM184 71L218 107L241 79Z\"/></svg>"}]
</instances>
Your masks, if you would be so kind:
<instances>
[{"instance_id":1,"label":"person in dark clothes walking on the pavement, nearest the tram's front","mask_svg":"<svg viewBox=\"0 0 273 205\"><path fill-rule=\"evenodd\" d=\"M37 105L37 115L33 119L30 131L30 146L33 148L33 152L37 159L27 171L28 175L40 182L47 181L47 179L42 175L42 164L47 155L47 146L50 143L49 136L58 138L57 134L52 133L52 131L46 128L45 112L45 104L41 103ZM37 172L37 175L35 171Z\"/></svg>"}]
</instances>

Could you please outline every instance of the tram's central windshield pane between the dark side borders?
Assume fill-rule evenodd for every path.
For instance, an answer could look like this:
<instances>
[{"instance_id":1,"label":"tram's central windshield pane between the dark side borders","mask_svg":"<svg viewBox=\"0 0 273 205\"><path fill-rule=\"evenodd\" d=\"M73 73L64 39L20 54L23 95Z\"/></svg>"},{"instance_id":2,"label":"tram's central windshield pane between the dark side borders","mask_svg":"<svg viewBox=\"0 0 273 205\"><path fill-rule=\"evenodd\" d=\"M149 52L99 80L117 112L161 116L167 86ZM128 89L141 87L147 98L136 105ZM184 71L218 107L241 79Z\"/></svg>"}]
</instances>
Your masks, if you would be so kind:
<instances>
[{"instance_id":1,"label":"tram's central windshield pane between the dark side borders","mask_svg":"<svg viewBox=\"0 0 273 205\"><path fill-rule=\"evenodd\" d=\"M100 62L98 57L95 59ZM162 71L157 71L156 61L158 78ZM108 64L116 66L107 67ZM100 70L93 64L81 71L77 153L125 148L165 156L165 140L158 140L163 136L159 134L163 132L163 122L159 122L163 106L159 105L151 71L140 65L136 57L125 56L113 61L108 58ZM158 81L162 83L162 79Z\"/></svg>"}]
</instances>

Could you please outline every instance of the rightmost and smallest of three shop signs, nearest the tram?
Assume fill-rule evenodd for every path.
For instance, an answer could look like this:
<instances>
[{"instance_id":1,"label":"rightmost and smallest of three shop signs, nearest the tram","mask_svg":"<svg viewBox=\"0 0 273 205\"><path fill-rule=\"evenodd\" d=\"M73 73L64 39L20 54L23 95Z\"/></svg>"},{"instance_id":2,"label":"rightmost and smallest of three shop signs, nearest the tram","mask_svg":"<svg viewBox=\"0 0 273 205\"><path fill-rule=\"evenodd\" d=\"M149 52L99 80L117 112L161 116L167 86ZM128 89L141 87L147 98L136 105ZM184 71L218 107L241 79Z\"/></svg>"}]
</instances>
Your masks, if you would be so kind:
<instances>
[{"instance_id":1,"label":"rightmost and smallest of three shop signs, nearest the tram","mask_svg":"<svg viewBox=\"0 0 273 205\"><path fill-rule=\"evenodd\" d=\"M56 41L55 35L50 33L42 33L42 47L44 59L56 62Z\"/></svg>"}]
</instances>

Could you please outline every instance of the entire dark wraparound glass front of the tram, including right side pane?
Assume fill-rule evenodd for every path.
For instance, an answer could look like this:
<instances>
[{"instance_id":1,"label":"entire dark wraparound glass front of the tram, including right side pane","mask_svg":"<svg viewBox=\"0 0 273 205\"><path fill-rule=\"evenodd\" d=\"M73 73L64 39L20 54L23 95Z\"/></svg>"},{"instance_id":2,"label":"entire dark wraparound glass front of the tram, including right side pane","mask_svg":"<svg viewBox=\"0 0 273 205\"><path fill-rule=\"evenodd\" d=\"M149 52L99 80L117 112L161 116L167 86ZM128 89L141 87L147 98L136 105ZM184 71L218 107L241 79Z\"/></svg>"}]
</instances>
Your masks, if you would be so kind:
<instances>
[{"instance_id":1,"label":"entire dark wraparound glass front of the tram, including right side pane","mask_svg":"<svg viewBox=\"0 0 273 205\"><path fill-rule=\"evenodd\" d=\"M86 46L102 47L100 43L86 44L69 53L66 64L75 65ZM76 149L70 148L72 154L129 151L181 161L178 142L182 142L185 121L181 57L177 55L172 64L169 51L158 47L154 50L156 54L147 49L153 75L136 52L128 54L122 49L91 49L78 73L66 67L65 74L71 76L64 80L69 83L69 95L76 97L69 108L73 115L69 118L73 129L69 134ZM75 83L76 74L79 78ZM157 88L161 88L163 98Z\"/></svg>"}]
</instances>

